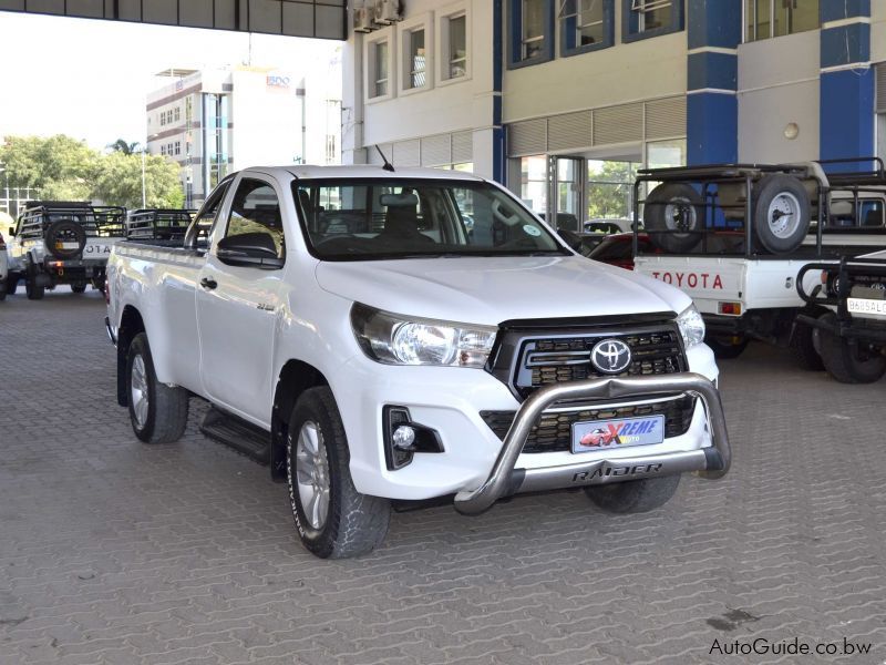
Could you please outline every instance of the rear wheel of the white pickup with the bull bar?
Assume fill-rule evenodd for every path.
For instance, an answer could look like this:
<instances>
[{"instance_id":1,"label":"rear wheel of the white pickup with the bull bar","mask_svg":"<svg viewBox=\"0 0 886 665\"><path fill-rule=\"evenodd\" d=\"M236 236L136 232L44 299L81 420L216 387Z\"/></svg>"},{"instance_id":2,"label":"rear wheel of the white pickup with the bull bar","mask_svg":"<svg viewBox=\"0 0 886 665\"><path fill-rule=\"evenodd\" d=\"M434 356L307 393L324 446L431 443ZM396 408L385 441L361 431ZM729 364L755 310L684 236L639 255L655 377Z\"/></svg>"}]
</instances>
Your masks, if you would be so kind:
<instances>
[{"instance_id":1,"label":"rear wheel of the white pickup with the bull bar","mask_svg":"<svg viewBox=\"0 0 886 665\"><path fill-rule=\"evenodd\" d=\"M136 380L136 383L142 385L140 393L147 397L146 407L140 407L141 400L134 403L137 399L133 383L134 367L136 374L143 377L143 381ZM184 388L171 388L157 381L147 335L136 335L126 351L126 402L135 436L145 443L172 443L181 439L187 424L188 398Z\"/></svg>"}]
</instances>

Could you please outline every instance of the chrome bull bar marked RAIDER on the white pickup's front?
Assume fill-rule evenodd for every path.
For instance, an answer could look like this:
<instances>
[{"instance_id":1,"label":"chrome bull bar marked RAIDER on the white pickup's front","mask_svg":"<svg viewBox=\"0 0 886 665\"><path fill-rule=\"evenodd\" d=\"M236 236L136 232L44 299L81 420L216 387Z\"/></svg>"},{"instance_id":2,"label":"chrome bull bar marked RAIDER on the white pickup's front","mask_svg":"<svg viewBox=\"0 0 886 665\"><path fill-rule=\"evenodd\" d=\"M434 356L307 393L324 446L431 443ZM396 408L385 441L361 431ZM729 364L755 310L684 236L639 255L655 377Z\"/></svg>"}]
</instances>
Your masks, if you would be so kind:
<instances>
[{"instance_id":1,"label":"chrome bull bar marked RAIDER on the white pickup's front","mask_svg":"<svg viewBox=\"0 0 886 665\"><path fill-rule=\"evenodd\" d=\"M711 447L651 456L638 454L615 460L595 459L543 469L514 468L533 426L542 412L555 402L570 399L609 400L624 397L651 397L673 392L682 392L701 400L713 440ZM732 453L720 393L713 382L700 374L589 379L558 383L542 388L523 403L505 436L502 450L488 477L478 488L459 492L455 495L455 509L463 514L478 514L502 497L517 492L600 484L684 471L694 471L701 478L713 480L725 475L731 461Z\"/></svg>"}]
</instances>

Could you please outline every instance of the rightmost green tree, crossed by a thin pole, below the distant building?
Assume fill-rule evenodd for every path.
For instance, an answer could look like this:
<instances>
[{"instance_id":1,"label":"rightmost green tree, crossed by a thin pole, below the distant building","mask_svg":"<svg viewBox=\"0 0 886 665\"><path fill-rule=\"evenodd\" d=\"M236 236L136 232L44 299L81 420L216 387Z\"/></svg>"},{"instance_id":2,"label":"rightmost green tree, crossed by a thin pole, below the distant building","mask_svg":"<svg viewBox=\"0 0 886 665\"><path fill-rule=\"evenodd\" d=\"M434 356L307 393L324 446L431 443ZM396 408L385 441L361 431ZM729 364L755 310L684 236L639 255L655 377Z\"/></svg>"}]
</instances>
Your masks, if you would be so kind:
<instances>
[{"instance_id":1,"label":"rightmost green tree, crossed by a thin pole, below the distant building","mask_svg":"<svg viewBox=\"0 0 886 665\"><path fill-rule=\"evenodd\" d=\"M184 193L178 166L158 155L144 155L147 207L182 207ZM93 186L93 197L109 205L142 207L142 154L104 155Z\"/></svg>"}]
</instances>

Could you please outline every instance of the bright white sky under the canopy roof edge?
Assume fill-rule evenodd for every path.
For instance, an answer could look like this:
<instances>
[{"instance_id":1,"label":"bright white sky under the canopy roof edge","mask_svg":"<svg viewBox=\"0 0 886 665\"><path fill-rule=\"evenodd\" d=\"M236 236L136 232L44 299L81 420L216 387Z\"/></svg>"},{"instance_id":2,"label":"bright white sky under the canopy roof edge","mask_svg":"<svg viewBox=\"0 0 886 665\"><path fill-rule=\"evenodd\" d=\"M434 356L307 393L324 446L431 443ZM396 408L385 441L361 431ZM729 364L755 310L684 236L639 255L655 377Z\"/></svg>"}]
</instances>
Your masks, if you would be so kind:
<instances>
[{"instance_id":1,"label":"bright white sky under the canopy roof edge","mask_svg":"<svg viewBox=\"0 0 886 665\"><path fill-rule=\"evenodd\" d=\"M293 73L338 42L0 11L0 137L68 134L144 143L145 95L169 66L249 62ZM166 80L168 83L168 80Z\"/></svg>"}]
</instances>

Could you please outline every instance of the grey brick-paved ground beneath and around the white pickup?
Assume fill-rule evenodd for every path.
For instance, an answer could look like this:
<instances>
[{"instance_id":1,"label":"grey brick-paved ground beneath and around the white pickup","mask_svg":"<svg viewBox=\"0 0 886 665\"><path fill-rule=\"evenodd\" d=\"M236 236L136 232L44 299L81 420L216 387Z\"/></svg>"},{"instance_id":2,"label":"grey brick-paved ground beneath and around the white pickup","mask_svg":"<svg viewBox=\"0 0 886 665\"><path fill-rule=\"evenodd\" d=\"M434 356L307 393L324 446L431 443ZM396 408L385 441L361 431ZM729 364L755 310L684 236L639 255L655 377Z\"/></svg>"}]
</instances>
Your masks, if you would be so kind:
<instances>
[{"instance_id":1,"label":"grey brick-paved ground beneath and around the white pickup","mask_svg":"<svg viewBox=\"0 0 886 665\"><path fill-rule=\"evenodd\" d=\"M374 554L327 562L203 409L179 443L136 441L103 309L0 303L2 665L886 663L884 383L751 347L722 365L723 481L639 518L581 493L398 514ZM873 649L722 653L795 637Z\"/></svg>"}]
</instances>

